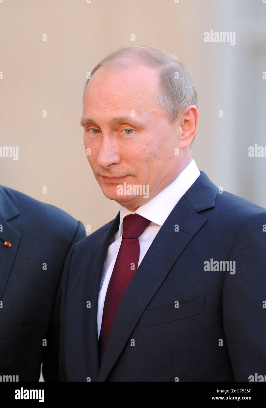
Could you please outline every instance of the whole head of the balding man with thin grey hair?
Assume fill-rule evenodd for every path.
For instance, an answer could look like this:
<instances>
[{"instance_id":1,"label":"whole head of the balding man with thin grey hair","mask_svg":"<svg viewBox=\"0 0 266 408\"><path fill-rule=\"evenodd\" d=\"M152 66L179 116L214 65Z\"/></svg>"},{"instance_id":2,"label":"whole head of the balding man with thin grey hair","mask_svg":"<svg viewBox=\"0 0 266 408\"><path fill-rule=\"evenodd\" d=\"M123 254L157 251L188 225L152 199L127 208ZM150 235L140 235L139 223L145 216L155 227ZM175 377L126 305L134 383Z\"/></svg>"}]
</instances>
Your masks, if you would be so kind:
<instances>
[{"instance_id":1,"label":"whole head of the balding man with thin grey hair","mask_svg":"<svg viewBox=\"0 0 266 408\"><path fill-rule=\"evenodd\" d=\"M191 161L197 119L197 91L175 56L129 46L104 58L87 81L81 120L104 195L134 211L162 191Z\"/></svg>"}]
</instances>

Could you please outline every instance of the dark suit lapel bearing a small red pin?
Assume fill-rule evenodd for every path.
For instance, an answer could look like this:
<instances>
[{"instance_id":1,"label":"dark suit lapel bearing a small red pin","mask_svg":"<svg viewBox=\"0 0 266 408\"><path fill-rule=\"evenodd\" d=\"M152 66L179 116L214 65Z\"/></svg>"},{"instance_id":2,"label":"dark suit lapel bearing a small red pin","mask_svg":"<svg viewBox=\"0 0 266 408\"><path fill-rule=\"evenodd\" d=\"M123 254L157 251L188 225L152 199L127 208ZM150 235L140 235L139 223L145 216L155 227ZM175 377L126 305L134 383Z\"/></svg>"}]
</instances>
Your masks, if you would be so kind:
<instances>
[{"instance_id":1,"label":"dark suit lapel bearing a small red pin","mask_svg":"<svg viewBox=\"0 0 266 408\"><path fill-rule=\"evenodd\" d=\"M18 251L20 233L9 224L12 218L19 215L18 209L11 202L3 188L0 187L0 299L2 299L11 268ZM11 246L4 245L9 241Z\"/></svg>"}]
</instances>

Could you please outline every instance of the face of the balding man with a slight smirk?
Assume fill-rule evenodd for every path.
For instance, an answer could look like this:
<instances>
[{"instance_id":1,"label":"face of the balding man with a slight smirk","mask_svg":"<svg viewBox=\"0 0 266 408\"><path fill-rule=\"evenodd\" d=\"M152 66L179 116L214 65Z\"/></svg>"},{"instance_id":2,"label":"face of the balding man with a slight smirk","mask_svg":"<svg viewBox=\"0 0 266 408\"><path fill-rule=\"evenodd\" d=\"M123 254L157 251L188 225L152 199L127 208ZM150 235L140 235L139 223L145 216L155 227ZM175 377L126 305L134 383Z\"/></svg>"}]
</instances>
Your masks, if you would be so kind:
<instances>
[{"instance_id":1,"label":"face of the balding man with a slight smirk","mask_svg":"<svg viewBox=\"0 0 266 408\"><path fill-rule=\"evenodd\" d=\"M107 198L131 211L173 182L180 166L180 122L169 124L155 103L158 83L151 67L101 67L84 95L81 123L95 178ZM148 186L149 197L134 185Z\"/></svg>"}]
</instances>

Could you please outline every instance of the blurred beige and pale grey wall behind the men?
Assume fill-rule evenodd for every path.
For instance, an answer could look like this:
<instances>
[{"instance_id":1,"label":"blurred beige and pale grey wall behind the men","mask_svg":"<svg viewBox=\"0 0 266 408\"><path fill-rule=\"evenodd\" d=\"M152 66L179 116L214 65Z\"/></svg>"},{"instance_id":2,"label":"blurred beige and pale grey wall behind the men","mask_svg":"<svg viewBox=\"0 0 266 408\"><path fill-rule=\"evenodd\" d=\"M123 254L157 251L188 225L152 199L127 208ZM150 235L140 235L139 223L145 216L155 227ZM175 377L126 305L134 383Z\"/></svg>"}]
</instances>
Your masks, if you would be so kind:
<instances>
[{"instance_id":1,"label":"blurred beige and pale grey wall behind the men","mask_svg":"<svg viewBox=\"0 0 266 408\"><path fill-rule=\"evenodd\" d=\"M224 190L266 206L266 157L248 157L248 146L266 145L265 15L262 0L252 7L248 0L2 0L0 146L19 146L19 158L0 157L0 184L92 231L111 220L119 206L102 195L86 160L82 92L86 72L107 53L146 44L177 55L193 73L198 167ZM235 31L235 46L205 43L211 29Z\"/></svg>"}]
</instances>

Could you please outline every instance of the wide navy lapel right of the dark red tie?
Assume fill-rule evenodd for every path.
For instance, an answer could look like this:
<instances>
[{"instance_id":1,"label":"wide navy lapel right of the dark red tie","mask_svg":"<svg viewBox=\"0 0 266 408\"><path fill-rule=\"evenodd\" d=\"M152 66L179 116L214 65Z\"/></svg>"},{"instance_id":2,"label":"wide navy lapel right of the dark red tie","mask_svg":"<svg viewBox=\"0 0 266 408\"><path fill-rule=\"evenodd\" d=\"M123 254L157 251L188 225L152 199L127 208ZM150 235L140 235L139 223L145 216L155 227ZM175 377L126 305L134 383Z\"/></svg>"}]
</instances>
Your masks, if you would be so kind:
<instances>
[{"instance_id":1,"label":"wide navy lapel right of the dark red tie","mask_svg":"<svg viewBox=\"0 0 266 408\"><path fill-rule=\"evenodd\" d=\"M205 173L198 177L168 216L137 268L117 308L97 381L106 380L144 309L176 259L207 221L196 208L203 211L214 206L218 189L208 182ZM175 232L176 224L179 232Z\"/></svg>"}]
</instances>

